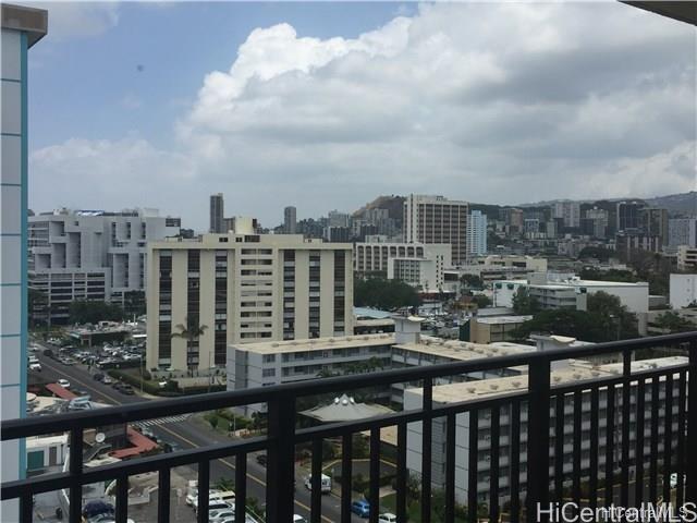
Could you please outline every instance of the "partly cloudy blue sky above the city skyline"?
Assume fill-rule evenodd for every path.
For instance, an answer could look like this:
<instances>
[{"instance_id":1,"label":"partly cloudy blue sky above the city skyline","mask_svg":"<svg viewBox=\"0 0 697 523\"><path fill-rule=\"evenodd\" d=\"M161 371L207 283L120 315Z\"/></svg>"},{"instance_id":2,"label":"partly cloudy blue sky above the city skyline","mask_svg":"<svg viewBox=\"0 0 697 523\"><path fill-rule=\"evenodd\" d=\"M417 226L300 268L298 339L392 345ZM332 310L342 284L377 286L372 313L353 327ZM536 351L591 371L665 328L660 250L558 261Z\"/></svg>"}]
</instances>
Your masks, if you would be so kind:
<instances>
[{"instance_id":1,"label":"partly cloudy blue sky above the city skyline","mask_svg":"<svg viewBox=\"0 0 697 523\"><path fill-rule=\"evenodd\" d=\"M35 211L697 188L695 27L619 2L32 5Z\"/></svg>"}]
</instances>

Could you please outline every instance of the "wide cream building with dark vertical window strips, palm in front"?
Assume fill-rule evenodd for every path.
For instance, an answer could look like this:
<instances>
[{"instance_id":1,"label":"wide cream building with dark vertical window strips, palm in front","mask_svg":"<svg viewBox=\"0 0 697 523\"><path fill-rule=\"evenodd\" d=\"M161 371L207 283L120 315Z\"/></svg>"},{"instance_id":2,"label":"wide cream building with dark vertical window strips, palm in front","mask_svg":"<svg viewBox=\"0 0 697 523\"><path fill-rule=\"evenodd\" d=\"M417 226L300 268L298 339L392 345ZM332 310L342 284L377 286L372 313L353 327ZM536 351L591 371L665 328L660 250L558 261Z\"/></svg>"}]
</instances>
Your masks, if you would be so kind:
<instances>
[{"instance_id":1,"label":"wide cream building with dark vertical window strips, palm in front","mask_svg":"<svg viewBox=\"0 0 697 523\"><path fill-rule=\"evenodd\" d=\"M148 368L208 369L228 344L353 333L352 247L230 232L148 244ZM205 325L187 354L179 324Z\"/></svg>"}]
</instances>

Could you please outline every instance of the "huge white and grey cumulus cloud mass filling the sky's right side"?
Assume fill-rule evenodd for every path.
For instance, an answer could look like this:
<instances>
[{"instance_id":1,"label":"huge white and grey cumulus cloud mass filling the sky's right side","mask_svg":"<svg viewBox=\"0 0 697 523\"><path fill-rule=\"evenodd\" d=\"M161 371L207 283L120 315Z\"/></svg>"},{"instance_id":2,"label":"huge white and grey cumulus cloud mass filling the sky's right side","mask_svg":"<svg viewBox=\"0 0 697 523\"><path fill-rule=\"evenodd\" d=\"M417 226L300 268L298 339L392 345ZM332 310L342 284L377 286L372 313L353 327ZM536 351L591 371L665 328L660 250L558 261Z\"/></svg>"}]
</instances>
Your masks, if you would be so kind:
<instances>
[{"instance_id":1,"label":"huge white and grey cumulus cloud mass filling the sky's right side","mask_svg":"<svg viewBox=\"0 0 697 523\"><path fill-rule=\"evenodd\" d=\"M268 224L289 203L319 215L383 193L686 191L695 58L693 27L616 2L421 5L356 38L278 24L203 78L175 125L180 153L145 156L189 166L180 205L184 187L223 191L228 209ZM205 227L205 199L186 212Z\"/></svg>"}]
</instances>

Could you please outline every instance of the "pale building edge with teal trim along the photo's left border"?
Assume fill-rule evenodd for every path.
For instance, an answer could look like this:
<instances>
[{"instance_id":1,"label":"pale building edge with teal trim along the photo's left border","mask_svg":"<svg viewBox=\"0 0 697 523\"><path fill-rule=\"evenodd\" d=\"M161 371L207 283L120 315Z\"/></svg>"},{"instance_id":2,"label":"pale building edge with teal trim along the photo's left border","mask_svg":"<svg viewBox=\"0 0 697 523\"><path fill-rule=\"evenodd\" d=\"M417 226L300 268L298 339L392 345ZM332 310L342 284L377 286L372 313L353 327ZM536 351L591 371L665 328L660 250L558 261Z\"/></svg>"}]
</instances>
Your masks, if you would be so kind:
<instances>
[{"instance_id":1,"label":"pale building edge with teal trim along the photo's left border","mask_svg":"<svg viewBox=\"0 0 697 523\"><path fill-rule=\"evenodd\" d=\"M2 170L0 181L0 388L2 419L26 414L27 381L27 51L46 35L48 12L3 3ZM24 440L2 441L2 481L24 477ZM19 521L17 500L2 501L1 521Z\"/></svg>"}]
</instances>

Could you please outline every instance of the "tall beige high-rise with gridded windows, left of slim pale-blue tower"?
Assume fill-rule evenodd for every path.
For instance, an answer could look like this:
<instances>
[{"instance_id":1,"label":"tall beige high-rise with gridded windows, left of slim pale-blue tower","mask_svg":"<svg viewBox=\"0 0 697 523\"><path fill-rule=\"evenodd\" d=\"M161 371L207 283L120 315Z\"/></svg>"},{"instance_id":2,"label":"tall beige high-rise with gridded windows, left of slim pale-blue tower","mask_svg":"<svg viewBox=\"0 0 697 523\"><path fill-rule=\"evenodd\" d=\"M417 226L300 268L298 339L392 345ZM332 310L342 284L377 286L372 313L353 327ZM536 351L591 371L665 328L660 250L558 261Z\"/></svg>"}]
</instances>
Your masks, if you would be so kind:
<instances>
[{"instance_id":1,"label":"tall beige high-rise with gridded windows, left of slim pale-blue tower","mask_svg":"<svg viewBox=\"0 0 697 523\"><path fill-rule=\"evenodd\" d=\"M467 202L411 194L404 200L404 241L448 243L452 246L453 264L465 264L468 215Z\"/></svg>"}]
</instances>

